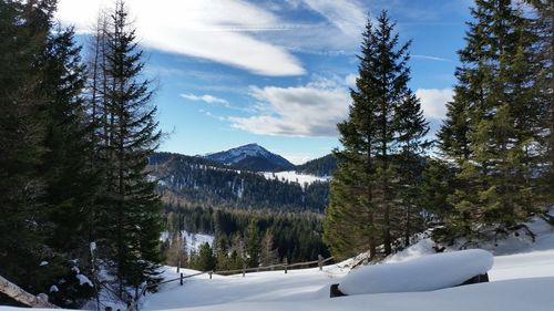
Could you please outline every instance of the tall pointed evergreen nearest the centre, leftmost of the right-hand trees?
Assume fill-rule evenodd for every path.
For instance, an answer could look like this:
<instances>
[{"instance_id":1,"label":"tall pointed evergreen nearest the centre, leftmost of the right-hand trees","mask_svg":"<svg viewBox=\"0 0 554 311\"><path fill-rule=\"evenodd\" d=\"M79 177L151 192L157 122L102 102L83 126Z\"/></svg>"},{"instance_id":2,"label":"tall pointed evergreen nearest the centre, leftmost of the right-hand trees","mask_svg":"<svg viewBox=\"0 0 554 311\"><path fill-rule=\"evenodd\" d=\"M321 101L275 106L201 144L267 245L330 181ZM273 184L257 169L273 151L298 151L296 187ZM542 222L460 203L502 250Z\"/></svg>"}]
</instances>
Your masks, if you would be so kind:
<instances>
[{"instance_id":1,"label":"tall pointed evergreen nearest the centre, leftmost of the right-hand trees","mask_svg":"<svg viewBox=\"0 0 554 311\"><path fill-rule=\"evenodd\" d=\"M343 149L334 153L338 168L326 209L324 239L339 259L368 249L375 258L378 245L383 245L384 255L389 255L400 236L393 222L404 222L404 229L411 226L400 189L414 189L414 180L399 183L399 174L416 169L413 158L428 127L418 100L407 86L410 42L399 46L393 28L384 11L377 27L368 21L349 118L338 124Z\"/></svg>"}]
</instances>

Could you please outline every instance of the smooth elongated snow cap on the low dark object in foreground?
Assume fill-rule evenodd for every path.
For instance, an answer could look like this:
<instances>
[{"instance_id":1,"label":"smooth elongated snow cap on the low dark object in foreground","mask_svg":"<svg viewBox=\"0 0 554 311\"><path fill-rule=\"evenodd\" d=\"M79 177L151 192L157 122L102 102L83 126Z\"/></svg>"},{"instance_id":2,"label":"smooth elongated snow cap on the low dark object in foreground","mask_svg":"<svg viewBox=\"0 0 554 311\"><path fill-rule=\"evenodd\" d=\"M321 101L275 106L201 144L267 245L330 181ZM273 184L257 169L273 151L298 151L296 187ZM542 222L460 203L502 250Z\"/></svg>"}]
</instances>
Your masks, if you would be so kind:
<instances>
[{"instance_id":1,"label":"smooth elongated snow cap on the low dark object in foreground","mask_svg":"<svg viewBox=\"0 0 554 311\"><path fill-rule=\"evenodd\" d=\"M486 273L493 261L489 251L471 249L434 253L404 262L366 266L345 277L339 290L346 294L438 290Z\"/></svg>"}]
</instances>

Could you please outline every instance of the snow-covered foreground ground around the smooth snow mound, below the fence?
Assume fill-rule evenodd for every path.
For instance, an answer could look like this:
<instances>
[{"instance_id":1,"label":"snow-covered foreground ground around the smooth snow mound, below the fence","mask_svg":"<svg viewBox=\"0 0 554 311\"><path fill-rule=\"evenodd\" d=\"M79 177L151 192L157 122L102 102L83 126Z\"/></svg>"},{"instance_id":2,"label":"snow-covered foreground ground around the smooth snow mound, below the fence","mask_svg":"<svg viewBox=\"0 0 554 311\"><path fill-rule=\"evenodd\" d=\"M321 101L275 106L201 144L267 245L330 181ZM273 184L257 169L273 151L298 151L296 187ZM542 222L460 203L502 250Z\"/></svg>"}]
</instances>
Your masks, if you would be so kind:
<instances>
[{"instance_id":1,"label":"snow-covered foreground ground around the smooth snow mound, below the fence","mask_svg":"<svg viewBox=\"0 0 554 311\"><path fill-rule=\"evenodd\" d=\"M214 274L213 279L209 279L207 274L193 277L186 279L183 287L178 282L163 284L157 293L148 294L142 300L141 310L552 311L554 310L552 292L554 289L554 229L540 219L535 219L530 226L537 234L535 243L527 243L523 237L514 236L491 249L497 255L494 257L493 268L489 271L491 280L489 283L431 291L416 291L419 290L416 288L411 292L360 293L329 298L330 284L341 283L349 279L347 277L349 269L345 267L347 261L324 267L322 271L312 268L290 270L287 274L284 271L247 273L245 278L240 274L229 277ZM417 261L429 261L421 257L432 252L431 246L432 241L422 238L414 246L389 258L387 262L409 263L413 260L410 265L418 266ZM471 255L465 258L470 261L475 259L483 261L476 266L470 265L475 269L488 265L485 257L481 255L476 257ZM382 269L387 269L384 267L392 269L398 265L389 263L383 263ZM391 270L394 273L387 281L427 283L427 279L442 279L449 273L450 268L445 269L444 266L439 268L437 265L437 262L425 265L425 273L410 273L408 269L399 276L396 273L398 270L394 269L396 272ZM456 268L451 267L451 269ZM196 272L184 271L186 274ZM363 277L363 270L358 271ZM166 278L177 277L175 268L171 267L166 268L164 274ZM369 278L369 274L366 276ZM19 309L0 307L0 310L18 311Z\"/></svg>"}]
</instances>

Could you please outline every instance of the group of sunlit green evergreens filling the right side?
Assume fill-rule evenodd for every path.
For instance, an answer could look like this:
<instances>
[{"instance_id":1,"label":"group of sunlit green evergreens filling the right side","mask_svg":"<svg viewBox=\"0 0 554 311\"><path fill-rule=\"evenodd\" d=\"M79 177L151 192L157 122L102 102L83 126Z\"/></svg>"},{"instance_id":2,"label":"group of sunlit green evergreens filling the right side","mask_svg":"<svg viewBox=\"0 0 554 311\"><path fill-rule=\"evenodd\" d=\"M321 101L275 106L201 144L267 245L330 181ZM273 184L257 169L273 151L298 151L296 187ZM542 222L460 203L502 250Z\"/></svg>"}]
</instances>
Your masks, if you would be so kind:
<instances>
[{"instance_id":1,"label":"group of sunlit green evergreens filling the right side","mask_svg":"<svg viewBox=\"0 0 554 311\"><path fill-rule=\"evenodd\" d=\"M437 139L409 89L409 45L368 19L348 120L338 124L324 238L370 259L433 229L462 247L506 237L553 203L553 1L478 0ZM433 152L429 152L429 151Z\"/></svg>"}]
</instances>

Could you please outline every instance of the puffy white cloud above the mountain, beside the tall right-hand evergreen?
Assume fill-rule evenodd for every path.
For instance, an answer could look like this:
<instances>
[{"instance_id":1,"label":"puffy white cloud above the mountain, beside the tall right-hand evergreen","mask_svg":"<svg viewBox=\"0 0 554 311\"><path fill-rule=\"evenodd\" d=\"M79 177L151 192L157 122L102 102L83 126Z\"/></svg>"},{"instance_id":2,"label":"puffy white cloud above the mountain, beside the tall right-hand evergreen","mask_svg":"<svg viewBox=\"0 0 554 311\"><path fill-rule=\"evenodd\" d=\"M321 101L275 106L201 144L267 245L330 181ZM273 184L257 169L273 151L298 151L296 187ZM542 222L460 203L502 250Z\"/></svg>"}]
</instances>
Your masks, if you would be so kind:
<instances>
[{"instance_id":1,"label":"puffy white cloud above the mountain, beside the tall right-hand evergreen","mask_svg":"<svg viewBox=\"0 0 554 311\"><path fill-rule=\"evenodd\" d=\"M334 82L297 87L253 86L250 95L261 105L260 114L229 117L232 126L255 134L280 136L337 136L337 123L348 115L348 90Z\"/></svg>"}]
</instances>

